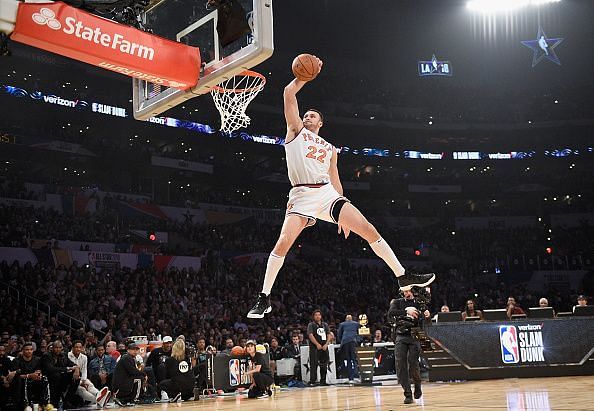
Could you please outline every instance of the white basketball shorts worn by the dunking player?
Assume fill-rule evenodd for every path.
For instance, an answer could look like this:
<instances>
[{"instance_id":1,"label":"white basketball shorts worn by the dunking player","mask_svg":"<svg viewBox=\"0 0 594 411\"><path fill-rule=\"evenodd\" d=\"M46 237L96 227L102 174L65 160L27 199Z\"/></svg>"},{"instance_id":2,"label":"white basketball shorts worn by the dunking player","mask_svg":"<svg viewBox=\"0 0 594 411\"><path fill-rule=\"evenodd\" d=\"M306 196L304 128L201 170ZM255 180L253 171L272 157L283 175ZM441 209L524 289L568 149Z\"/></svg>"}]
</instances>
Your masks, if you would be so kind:
<instances>
[{"instance_id":1,"label":"white basketball shorts worn by the dunking player","mask_svg":"<svg viewBox=\"0 0 594 411\"><path fill-rule=\"evenodd\" d=\"M312 226L317 219L337 223L332 217L332 210L338 200L350 201L338 194L332 184L321 187L293 187L289 191L287 215L296 214L306 217L309 221L306 227Z\"/></svg>"}]
</instances>

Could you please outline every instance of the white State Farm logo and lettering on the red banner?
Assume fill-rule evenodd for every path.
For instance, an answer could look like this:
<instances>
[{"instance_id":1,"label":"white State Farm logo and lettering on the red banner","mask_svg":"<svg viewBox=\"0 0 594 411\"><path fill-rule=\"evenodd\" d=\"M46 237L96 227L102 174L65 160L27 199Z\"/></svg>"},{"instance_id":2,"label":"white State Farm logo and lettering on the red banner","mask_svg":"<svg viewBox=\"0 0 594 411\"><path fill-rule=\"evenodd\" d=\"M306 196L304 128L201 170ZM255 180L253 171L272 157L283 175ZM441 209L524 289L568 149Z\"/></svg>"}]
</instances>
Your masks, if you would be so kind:
<instances>
[{"instance_id":1,"label":"white State Farm logo and lettering on the red banner","mask_svg":"<svg viewBox=\"0 0 594 411\"><path fill-rule=\"evenodd\" d=\"M35 23L47 25L53 30L62 28L62 24L56 19L54 11L45 7L40 9L39 13L34 13L32 19ZM100 27L93 28L85 26L82 21L77 21L74 17L66 17L62 32L145 60L153 60L155 56L155 50L151 47L128 41L122 34L115 33L111 35L109 33L103 33Z\"/></svg>"}]
</instances>

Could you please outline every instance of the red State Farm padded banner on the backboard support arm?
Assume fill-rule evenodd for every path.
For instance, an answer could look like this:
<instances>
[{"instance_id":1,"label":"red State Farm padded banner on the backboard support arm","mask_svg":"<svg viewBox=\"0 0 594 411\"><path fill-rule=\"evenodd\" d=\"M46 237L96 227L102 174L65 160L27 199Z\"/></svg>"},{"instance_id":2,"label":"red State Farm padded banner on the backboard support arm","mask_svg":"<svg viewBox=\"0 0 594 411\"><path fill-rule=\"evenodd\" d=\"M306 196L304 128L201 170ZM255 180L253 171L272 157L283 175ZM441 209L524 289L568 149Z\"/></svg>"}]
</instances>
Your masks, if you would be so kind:
<instances>
[{"instance_id":1,"label":"red State Farm padded banner on the backboard support arm","mask_svg":"<svg viewBox=\"0 0 594 411\"><path fill-rule=\"evenodd\" d=\"M60 2L20 3L11 39L167 87L187 89L200 75L197 47Z\"/></svg>"}]
</instances>

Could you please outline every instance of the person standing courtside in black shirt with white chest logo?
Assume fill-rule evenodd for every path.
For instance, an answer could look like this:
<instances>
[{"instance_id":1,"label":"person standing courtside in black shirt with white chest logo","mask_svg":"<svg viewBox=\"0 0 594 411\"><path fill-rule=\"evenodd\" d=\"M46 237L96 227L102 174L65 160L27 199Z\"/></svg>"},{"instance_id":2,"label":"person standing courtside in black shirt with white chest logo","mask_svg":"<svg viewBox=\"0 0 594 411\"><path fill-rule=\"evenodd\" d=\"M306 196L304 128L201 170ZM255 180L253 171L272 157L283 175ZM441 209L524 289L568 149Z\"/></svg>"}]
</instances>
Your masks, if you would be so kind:
<instances>
[{"instance_id":1,"label":"person standing courtside in black shirt with white chest logo","mask_svg":"<svg viewBox=\"0 0 594 411\"><path fill-rule=\"evenodd\" d=\"M322 312L314 310L312 321L307 326L307 337L309 339L309 384L316 385L318 380L318 365L320 367L320 385L326 383L326 373L328 371L328 338L330 327L322 322Z\"/></svg>"}]
</instances>

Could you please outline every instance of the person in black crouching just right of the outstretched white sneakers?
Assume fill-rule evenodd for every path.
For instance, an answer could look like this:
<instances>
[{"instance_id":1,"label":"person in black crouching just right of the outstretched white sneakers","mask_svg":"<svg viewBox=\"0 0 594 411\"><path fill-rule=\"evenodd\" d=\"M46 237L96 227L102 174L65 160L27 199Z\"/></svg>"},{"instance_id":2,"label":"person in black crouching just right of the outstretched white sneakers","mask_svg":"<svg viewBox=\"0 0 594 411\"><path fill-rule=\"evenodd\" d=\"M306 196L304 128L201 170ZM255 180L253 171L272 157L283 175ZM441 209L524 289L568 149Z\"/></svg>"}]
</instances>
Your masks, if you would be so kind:
<instances>
[{"instance_id":1,"label":"person in black crouching just right of the outstretched white sneakers","mask_svg":"<svg viewBox=\"0 0 594 411\"><path fill-rule=\"evenodd\" d=\"M120 358L113 371L112 392L115 393L114 401L118 405L136 402L142 390L142 383L146 382L142 366L136 366L138 345L129 343L127 350L128 353Z\"/></svg>"}]
</instances>

